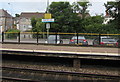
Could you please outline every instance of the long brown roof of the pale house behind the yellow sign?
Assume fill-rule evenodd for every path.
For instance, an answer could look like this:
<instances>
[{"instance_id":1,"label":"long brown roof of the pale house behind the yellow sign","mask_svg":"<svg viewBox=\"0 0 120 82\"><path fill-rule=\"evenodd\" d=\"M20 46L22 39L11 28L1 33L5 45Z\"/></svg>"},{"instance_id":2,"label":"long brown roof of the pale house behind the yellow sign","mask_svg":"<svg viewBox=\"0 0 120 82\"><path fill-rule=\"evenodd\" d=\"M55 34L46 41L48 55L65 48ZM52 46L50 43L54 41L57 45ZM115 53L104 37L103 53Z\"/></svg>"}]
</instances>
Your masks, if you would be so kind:
<instances>
[{"instance_id":1,"label":"long brown roof of the pale house behind the yellow sign","mask_svg":"<svg viewBox=\"0 0 120 82\"><path fill-rule=\"evenodd\" d=\"M44 17L44 13L38 13L38 12L22 12L20 14L20 18L24 17L24 18L31 18L31 17L37 17L37 18L41 18Z\"/></svg>"}]
</instances>

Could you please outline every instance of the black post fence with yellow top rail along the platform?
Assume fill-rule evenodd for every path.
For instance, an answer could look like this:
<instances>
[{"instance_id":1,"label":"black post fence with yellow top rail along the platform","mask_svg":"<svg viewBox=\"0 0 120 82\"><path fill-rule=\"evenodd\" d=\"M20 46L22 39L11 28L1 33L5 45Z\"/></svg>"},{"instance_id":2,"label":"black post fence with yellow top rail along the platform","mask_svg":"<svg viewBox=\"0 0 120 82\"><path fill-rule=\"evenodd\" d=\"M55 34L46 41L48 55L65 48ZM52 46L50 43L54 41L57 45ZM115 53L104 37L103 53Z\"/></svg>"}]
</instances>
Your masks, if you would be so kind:
<instances>
[{"instance_id":1,"label":"black post fence with yellow top rail along the platform","mask_svg":"<svg viewBox=\"0 0 120 82\"><path fill-rule=\"evenodd\" d=\"M98 33L56 33L50 32L49 36L53 35L54 41L48 42L50 39L46 32L2 32L1 34L1 42L17 42L17 43L44 43L44 44L70 44L70 45L85 45L85 41L88 42L88 45L94 45L95 40L97 40L97 44L101 45L101 37L112 37L116 41L119 41L120 34L98 34ZM74 36L75 41L72 43L72 37ZM85 39L80 43L79 36ZM53 38L51 37L51 38ZM96 45L97 45L96 44ZM116 43L118 44L118 43ZM110 45L110 44L109 44Z\"/></svg>"}]
</instances>

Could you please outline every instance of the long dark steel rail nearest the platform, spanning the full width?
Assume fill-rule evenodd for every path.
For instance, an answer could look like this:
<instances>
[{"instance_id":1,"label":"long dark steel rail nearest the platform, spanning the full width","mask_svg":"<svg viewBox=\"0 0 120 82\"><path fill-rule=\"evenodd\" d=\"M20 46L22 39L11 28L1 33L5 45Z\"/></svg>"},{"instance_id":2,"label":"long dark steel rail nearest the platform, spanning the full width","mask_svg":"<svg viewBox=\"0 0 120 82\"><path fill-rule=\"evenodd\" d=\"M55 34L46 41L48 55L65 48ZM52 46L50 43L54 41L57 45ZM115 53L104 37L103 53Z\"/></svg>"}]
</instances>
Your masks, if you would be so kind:
<instances>
[{"instance_id":1,"label":"long dark steel rail nearest the platform, spanning the full width","mask_svg":"<svg viewBox=\"0 0 120 82\"><path fill-rule=\"evenodd\" d=\"M84 77L93 77L93 78L107 78L120 80L119 75L104 75L104 74L90 74L90 73L80 73L80 72L68 72L68 71L56 71L56 70L43 70L43 69L30 69L30 68L19 68L19 67L2 67L2 69L14 69L14 70L25 70L25 71L39 71L46 73L58 73L58 74L68 74L68 75L82 75Z\"/></svg>"}]
</instances>

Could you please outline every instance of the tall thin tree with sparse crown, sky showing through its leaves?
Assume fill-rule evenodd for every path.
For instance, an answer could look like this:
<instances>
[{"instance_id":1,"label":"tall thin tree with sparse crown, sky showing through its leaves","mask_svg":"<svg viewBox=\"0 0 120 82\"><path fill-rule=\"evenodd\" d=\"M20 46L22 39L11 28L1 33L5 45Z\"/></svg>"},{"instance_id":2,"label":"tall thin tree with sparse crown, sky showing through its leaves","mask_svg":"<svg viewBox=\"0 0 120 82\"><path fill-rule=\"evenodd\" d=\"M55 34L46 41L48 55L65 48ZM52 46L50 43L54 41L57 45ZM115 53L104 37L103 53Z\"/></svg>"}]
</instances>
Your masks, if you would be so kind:
<instances>
[{"instance_id":1,"label":"tall thin tree with sparse crown, sky showing through its leaves","mask_svg":"<svg viewBox=\"0 0 120 82\"><path fill-rule=\"evenodd\" d=\"M81 23L79 26L80 27L79 32L87 32L87 30L85 28L87 22L85 22L86 21L85 19L89 15L89 11L87 10L89 6L91 6L91 4L88 1L74 2L72 5L73 12L78 13L78 15L80 15L80 17L82 19L81 22L78 22L78 24Z\"/></svg>"}]
</instances>

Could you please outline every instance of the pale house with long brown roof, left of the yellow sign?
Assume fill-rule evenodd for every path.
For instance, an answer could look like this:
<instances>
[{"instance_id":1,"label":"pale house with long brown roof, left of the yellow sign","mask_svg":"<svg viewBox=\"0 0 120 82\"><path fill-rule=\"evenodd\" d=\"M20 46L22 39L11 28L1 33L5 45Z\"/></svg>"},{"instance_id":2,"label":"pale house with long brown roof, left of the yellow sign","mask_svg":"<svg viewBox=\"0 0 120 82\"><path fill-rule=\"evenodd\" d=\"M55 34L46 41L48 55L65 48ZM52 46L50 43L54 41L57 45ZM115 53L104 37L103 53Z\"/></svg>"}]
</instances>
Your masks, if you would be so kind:
<instances>
[{"instance_id":1,"label":"pale house with long brown roof, left of the yellow sign","mask_svg":"<svg viewBox=\"0 0 120 82\"><path fill-rule=\"evenodd\" d=\"M22 12L19 17L15 18L15 24L21 32L29 31L32 29L31 18L43 18L44 13L37 12Z\"/></svg>"}]
</instances>

